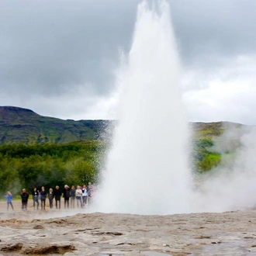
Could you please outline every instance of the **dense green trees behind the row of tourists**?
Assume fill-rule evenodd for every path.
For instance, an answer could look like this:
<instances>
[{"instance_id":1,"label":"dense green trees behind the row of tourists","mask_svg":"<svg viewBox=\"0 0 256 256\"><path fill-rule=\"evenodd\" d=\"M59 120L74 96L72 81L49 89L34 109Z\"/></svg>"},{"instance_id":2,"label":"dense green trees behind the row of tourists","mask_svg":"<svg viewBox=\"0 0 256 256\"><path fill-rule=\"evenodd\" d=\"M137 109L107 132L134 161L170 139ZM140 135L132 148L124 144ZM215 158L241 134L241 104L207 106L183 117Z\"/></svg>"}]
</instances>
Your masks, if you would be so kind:
<instances>
[{"instance_id":1,"label":"dense green trees behind the row of tourists","mask_svg":"<svg viewBox=\"0 0 256 256\"><path fill-rule=\"evenodd\" d=\"M3 144L0 146L0 194L22 188L95 183L106 143L87 140L70 144Z\"/></svg>"}]
</instances>

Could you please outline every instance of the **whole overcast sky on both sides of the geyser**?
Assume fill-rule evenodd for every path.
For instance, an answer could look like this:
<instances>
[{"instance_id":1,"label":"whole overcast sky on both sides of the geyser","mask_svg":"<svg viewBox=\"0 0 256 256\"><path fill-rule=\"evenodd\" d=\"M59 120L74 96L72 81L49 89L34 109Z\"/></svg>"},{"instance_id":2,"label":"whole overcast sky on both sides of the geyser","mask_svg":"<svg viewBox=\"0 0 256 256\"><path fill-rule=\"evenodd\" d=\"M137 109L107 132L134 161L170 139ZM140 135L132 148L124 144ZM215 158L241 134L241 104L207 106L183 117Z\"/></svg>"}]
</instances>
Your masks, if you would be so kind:
<instances>
[{"instance_id":1,"label":"whole overcast sky on both sides of the geyser","mask_svg":"<svg viewBox=\"0 0 256 256\"><path fill-rule=\"evenodd\" d=\"M0 0L0 106L112 119L138 0ZM256 125L256 1L171 0L189 121Z\"/></svg>"}]
</instances>

